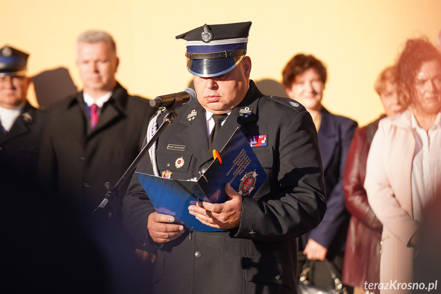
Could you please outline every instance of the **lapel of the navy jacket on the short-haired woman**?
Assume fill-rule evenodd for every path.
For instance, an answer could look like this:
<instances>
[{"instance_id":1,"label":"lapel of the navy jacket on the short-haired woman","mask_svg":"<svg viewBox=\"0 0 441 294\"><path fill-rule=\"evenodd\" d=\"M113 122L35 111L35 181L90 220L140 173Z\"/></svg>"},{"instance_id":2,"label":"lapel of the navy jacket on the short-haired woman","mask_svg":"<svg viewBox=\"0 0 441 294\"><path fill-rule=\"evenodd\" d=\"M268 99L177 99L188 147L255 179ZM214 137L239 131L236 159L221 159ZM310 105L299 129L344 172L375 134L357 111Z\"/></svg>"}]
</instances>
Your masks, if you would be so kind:
<instances>
[{"instance_id":1,"label":"lapel of the navy jacket on the short-haired woman","mask_svg":"<svg viewBox=\"0 0 441 294\"><path fill-rule=\"evenodd\" d=\"M332 159L335 145L337 143L335 138L335 124L332 115L324 107L321 110L321 124L318 130L318 143L320 145L321 160L323 162L323 169L326 170Z\"/></svg>"}]
</instances>

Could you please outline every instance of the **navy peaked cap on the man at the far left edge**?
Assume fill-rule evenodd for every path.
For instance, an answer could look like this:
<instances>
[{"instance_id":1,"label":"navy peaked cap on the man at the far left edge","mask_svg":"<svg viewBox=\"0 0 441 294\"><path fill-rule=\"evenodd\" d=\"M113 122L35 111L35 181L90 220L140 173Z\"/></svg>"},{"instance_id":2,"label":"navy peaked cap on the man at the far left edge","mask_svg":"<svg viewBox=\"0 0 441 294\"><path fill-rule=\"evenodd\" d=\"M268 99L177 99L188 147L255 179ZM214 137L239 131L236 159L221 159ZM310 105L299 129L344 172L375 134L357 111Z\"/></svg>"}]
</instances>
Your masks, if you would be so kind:
<instances>
[{"instance_id":1,"label":"navy peaked cap on the man at the far left edge","mask_svg":"<svg viewBox=\"0 0 441 294\"><path fill-rule=\"evenodd\" d=\"M29 54L10 46L0 49L0 76L24 76Z\"/></svg>"}]
</instances>

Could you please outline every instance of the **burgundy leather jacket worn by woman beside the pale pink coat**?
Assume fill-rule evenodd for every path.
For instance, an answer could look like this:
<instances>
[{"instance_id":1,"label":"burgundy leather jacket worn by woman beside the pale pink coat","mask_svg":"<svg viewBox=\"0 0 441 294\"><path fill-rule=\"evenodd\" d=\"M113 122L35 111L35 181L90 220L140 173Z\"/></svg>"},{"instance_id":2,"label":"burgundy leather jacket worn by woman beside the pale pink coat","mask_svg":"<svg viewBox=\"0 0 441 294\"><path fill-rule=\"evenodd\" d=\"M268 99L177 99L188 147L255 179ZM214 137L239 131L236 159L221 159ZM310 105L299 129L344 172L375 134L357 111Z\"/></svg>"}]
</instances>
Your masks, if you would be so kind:
<instances>
[{"instance_id":1,"label":"burgundy leather jacket worn by woman beside the pale pink coat","mask_svg":"<svg viewBox=\"0 0 441 294\"><path fill-rule=\"evenodd\" d=\"M385 116L382 116L383 118ZM380 282L380 241L383 225L367 202L363 188L370 143L380 119L354 133L343 177L346 209L351 214L344 251L343 283L364 288ZM379 290L377 289L377 292Z\"/></svg>"}]
</instances>

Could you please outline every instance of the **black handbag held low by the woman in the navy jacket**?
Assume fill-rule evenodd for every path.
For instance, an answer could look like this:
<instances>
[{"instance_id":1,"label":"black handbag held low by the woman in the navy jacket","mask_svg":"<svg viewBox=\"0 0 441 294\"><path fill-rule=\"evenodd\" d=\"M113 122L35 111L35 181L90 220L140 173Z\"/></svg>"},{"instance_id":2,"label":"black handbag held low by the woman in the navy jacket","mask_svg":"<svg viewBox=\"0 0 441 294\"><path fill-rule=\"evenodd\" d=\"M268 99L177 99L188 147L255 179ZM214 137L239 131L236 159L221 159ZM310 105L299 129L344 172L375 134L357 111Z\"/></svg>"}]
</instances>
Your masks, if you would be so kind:
<instances>
[{"instance_id":1,"label":"black handbag held low by the woman in the navy jacket","mask_svg":"<svg viewBox=\"0 0 441 294\"><path fill-rule=\"evenodd\" d=\"M311 272L310 262L311 260L307 259L302 267L297 285L298 294L347 294L346 288L343 287L343 283L337 277L337 270L328 259L324 259L324 263L328 267L331 278L334 280L335 288L311 285L311 282L308 280L308 274Z\"/></svg>"}]
</instances>

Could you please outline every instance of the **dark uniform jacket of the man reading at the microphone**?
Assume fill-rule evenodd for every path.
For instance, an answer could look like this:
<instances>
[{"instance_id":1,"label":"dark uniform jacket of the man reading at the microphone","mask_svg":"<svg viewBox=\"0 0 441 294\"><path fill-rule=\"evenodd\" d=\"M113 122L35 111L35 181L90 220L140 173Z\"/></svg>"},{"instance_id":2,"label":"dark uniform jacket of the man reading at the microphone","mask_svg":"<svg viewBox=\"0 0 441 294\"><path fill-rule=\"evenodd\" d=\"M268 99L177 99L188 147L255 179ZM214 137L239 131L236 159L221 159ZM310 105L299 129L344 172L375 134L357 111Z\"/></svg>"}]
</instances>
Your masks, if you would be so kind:
<instances>
[{"instance_id":1,"label":"dark uniform jacket of the man reading at the microphone","mask_svg":"<svg viewBox=\"0 0 441 294\"><path fill-rule=\"evenodd\" d=\"M245 107L250 114L241 116L239 110ZM197 116L189 121L193 110ZM177 112L178 117L158 140L160 171L170 170L175 179L198 177L198 171L213 161L212 150L220 149L240 127L245 137L267 135L268 145L253 150L268 178L253 198L243 199L239 228L191 235L187 231L176 240L156 244L154 292L295 293L295 238L316 227L326 209L311 116L293 100L262 95L250 81L245 98L208 148L204 108L195 102ZM167 150L169 144L185 149ZM184 165L176 168L174 163L181 156ZM148 158L137 170L153 174ZM148 216L155 209L135 177L123 209L125 227L136 240L155 244L147 231Z\"/></svg>"}]
</instances>

